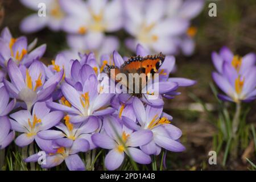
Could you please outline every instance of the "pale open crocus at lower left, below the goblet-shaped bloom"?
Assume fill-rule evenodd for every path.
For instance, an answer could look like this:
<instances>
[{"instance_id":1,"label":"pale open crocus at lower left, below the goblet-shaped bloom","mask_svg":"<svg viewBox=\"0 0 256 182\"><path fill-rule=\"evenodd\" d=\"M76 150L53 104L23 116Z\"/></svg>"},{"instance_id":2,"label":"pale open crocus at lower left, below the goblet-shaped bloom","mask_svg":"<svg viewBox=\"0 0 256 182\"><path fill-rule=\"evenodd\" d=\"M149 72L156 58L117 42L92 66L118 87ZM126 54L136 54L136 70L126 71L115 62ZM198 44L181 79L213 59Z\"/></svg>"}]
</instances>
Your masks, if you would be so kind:
<instances>
[{"instance_id":1,"label":"pale open crocus at lower left, below the goblet-shaped bloom","mask_svg":"<svg viewBox=\"0 0 256 182\"><path fill-rule=\"evenodd\" d=\"M20 147L24 147L34 140L39 143L38 132L48 130L59 123L63 118L63 112L50 112L45 102L36 102L32 114L28 110L19 110L10 114L10 117L14 119L10 119L11 128L22 133L15 139L15 143Z\"/></svg>"}]
</instances>

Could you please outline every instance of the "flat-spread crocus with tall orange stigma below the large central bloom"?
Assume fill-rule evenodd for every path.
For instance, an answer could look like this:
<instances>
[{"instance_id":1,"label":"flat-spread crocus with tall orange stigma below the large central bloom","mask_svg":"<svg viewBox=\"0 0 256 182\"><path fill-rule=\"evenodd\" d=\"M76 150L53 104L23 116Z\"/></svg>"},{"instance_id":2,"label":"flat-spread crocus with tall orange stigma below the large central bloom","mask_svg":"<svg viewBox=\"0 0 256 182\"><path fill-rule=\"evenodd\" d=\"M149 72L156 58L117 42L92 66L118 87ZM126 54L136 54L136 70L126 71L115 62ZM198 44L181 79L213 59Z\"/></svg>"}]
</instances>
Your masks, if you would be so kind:
<instances>
[{"instance_id":1,"label":"flat-spread crocus with tall orange stigma below the large central bloom","mask_svg":"<svg viewBox=\"0 0 256 182\"><path fill-rule=\"evenodd\" d=\"M59 123L55 127L59 130L40 131L38 136L43 139L55 139L55 142L65 146L77 139L86 139L89 142L89 148L92 150L96 146L92 142L91 135L100 126L100 119L90 117L87 122L72 124L69 122L69 115L65 115L64 123Z\"/></svg>"}]
</instances>

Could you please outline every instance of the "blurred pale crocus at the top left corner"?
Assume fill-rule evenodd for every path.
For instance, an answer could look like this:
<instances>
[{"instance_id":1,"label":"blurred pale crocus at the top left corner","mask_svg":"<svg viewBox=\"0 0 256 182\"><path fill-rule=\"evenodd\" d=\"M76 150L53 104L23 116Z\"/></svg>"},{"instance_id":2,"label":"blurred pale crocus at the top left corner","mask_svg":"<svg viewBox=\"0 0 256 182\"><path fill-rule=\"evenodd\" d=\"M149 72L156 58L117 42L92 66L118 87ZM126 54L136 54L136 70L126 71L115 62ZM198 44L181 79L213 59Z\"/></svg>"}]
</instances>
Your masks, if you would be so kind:
<instances>
[{"instance_id":1,"label":"blurred pale crocus at the top left corner","mask_svg":"<svg viewBox=\"0 0 256 182\"><path fill-rule=\"evenodd\" d=\"M20 2L29 9L35 10L35 14L31 14L24 18L20 23L20 30L26 33L32 33L48 27L53 31L59 31L63 24L65 13L61 10L59 1L56 0L20 0ZM41 5L41 6L39 6ZM41 9L46 15L39 16L38 11ZM40 12L39 12L40 13Z\"/></svg>"}]
</instances>

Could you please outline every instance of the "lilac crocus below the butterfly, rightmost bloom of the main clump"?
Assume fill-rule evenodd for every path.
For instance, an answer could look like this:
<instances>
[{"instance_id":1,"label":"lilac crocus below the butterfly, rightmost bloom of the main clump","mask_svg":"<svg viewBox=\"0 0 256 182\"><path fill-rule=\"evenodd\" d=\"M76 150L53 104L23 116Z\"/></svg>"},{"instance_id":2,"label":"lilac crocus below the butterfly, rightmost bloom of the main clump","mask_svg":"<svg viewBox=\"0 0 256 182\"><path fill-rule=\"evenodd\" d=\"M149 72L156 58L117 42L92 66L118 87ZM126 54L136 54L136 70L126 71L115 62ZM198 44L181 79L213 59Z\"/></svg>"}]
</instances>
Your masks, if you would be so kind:
<instances>
[{"instance_id":1,"label":"lilac crocus below the butterfly, rightmost bloom of the main clump","mask_svg":"<svg viewBox=\"0 0 256 182\"><path fill-rule=\"evenodd\" d=\"M137 117L139 125L136 121L127 116L122 116L124 124L132 130L150 130L153 133L152 140L140 146L141 150L148 155L159 155L161 147L173 152L181 152L185 147L177 140L181 137L181 130L170 124L170 115L163 113L163 107L146 106L135 98L133 102L134 114Z\"/></svg>"}]
</instances>

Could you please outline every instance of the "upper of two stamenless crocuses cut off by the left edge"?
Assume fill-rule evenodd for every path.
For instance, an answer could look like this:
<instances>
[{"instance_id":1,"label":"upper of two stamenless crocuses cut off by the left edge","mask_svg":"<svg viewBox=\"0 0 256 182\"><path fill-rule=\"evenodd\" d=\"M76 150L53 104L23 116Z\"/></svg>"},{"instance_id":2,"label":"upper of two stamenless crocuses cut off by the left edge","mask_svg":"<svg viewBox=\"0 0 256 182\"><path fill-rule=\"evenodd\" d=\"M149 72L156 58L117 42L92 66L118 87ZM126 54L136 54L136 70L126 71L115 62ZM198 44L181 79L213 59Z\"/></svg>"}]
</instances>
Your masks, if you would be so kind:
<instances>
[{"instance_id":1,"label":"upper of two stamenless crocuses cut off by the left edge","mask_svg":"<svg viewBox=\"0 0 256 182\"><path fill-rule=\"evenodd\" d=\"M1 86L0 93L0 116L5 116L9 114L11 110L13 110L16 100L14 99L9 102L10 97L5 86Z\"/></svg>"}]
</instances>

